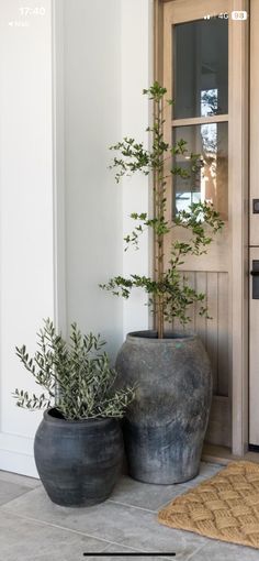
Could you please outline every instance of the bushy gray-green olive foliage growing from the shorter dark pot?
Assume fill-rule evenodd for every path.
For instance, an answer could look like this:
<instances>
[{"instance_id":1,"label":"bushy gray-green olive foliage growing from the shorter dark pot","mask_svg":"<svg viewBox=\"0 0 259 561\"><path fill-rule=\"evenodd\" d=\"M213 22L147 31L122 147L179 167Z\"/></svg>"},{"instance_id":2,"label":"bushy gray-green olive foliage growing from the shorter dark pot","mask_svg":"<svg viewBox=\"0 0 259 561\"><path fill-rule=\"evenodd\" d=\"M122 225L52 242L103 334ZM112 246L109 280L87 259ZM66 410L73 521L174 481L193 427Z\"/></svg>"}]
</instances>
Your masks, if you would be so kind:
<instances>
[{"instance_id":1,"label":"bushy gray-green olive foliage growing from the shorter dark pot","mask_svg":"<svg viewBox=\"0 0 259 561\"><path fill-rule=\"evenodd\" d=\"M134 388L115 389L116 372L110 367L108 355L102 351L105 342L100 336L83 336L77 324L71 323L67 343L56 333L53 321L46 319L37 338L40 350L34 358L29 356L25 345L16 346L15 351L46 395L30 396L16 388L13 396L19 407L35 410L55 406L68 420L123 417L134 399Z\"/></svg>"}]
</instances>

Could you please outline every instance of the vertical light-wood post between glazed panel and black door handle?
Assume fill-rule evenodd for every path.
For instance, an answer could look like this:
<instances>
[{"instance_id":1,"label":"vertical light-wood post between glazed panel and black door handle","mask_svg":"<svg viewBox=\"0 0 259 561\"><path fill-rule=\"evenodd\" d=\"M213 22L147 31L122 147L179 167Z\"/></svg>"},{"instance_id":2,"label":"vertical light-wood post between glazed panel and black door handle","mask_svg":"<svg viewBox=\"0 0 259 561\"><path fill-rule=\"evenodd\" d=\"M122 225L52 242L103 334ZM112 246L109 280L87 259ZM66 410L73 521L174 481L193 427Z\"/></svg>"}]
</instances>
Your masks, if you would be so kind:
<instances>
[{"instance_id":1,"label":"vertical light-wood post between glazed panel and black door handle","mask_svg":"<svg viewBox=\"0 0 259 561\"><path fill-rule=\"evenodd\" d=\"M248 0L232 0L233 10L249 12ZM233 453L244 455L248 449L248 310L249 310L249 33L247 24L230 25L230 57L241 64L230 69L230 146L235 163L230 169L230 230L232 230L232 333L233 333ZM238 194L237 200L235 193Z\"/></svg>"}]
</instances>

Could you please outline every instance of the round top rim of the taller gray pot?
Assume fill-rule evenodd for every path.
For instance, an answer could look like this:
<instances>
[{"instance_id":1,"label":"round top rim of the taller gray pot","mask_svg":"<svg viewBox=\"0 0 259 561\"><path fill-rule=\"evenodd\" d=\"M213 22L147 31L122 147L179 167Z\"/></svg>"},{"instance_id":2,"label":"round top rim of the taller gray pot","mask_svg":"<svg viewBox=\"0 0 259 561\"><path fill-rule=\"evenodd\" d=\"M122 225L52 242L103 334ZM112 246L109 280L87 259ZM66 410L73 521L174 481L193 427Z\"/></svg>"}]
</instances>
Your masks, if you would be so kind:
<instances>
[{"instance_id":1,"label":"round top rim of the taller gray pot","mask_svg":"<svg viewBox=\"0 0 259 561\"><path fill-rule=\"evenodd\" d=\"M179 333L177 331L165 331L165 337L162 339L158 339L157 331L155 329L146 329L143 331L131 331L127 333L126 339L128 341L136 341L137 343L146 343L150 341L151 344L156 343L184 343L189 341L194 341L200 339L196 333L190 331L189 333Z\"/></svg>"}]
</instances>

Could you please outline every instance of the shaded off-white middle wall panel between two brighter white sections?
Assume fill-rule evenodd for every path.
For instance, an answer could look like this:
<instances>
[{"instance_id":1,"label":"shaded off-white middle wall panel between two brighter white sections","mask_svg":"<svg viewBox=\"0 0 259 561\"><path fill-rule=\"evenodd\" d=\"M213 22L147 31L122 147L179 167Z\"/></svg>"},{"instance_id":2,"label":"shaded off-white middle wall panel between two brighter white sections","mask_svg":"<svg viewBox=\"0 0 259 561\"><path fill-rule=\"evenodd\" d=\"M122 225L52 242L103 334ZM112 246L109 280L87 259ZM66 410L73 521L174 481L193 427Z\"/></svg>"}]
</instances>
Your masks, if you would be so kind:
<instances>
[{"instance_id":1,"label":"shaded off-white middle wall panel between two brighter white sections","mask_svg":"<svg viewBox=\"0 0 259 561\"><path fill-rule=\"evenodd\" d=\"M122 302L99 288L122 271L122 190L108 170L121 134L121 1L64 0L67 322L115 350Z\"/></svg>"}]
</instances>

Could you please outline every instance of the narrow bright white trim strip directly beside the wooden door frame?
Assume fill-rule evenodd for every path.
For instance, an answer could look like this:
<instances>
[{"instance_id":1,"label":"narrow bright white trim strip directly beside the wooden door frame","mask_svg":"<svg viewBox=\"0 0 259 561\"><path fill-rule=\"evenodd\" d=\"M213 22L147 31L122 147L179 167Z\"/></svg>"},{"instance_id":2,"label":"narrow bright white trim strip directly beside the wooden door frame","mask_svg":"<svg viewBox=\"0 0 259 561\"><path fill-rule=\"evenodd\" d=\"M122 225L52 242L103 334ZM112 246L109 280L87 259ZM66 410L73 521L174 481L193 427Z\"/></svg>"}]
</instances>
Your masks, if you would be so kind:
<instances>
[{"instance_id":1,"label":"narrow bright white trim strip directly beside the wooden door frame","mask_svg":"<svg viewBox=\"0 0 259 561\"><path fill-rule=\"evenodd\" d=\"M122 138L132 136L148 147L145 132L149 124L149 106L143 89L153 82L153 1L122 0ZM148 178L142 175L123 182L124 235L135 227L131 212L146 212L150 206ZM123 273L148 275L151 268L151 240L144 234L139 250L124 252ZM147 298L136 289L123 305L123 333L147 329Z\"/></svg>"}]
</instances>

